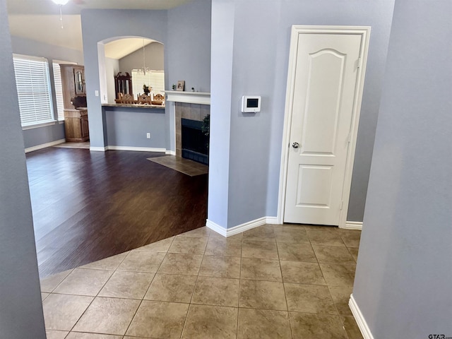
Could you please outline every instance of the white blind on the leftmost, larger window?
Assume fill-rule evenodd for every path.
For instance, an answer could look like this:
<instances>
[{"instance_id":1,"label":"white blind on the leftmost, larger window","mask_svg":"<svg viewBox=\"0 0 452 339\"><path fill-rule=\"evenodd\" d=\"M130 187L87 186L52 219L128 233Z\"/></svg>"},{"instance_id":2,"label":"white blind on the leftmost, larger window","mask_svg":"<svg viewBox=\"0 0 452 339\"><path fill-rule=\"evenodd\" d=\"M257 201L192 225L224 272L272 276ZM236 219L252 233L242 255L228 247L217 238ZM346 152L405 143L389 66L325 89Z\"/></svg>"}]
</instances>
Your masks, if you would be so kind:
<instances>
[{"instance_id":1,"label":"white blind on the leftmost, larger window","mask_svg":"<svg viewBox=\"0 0 452 339\"><path fill-rule=\"evenodd\" d=\"M14 55L22 126L54 121L47 59Z\"/></svg>"}]
</instances>

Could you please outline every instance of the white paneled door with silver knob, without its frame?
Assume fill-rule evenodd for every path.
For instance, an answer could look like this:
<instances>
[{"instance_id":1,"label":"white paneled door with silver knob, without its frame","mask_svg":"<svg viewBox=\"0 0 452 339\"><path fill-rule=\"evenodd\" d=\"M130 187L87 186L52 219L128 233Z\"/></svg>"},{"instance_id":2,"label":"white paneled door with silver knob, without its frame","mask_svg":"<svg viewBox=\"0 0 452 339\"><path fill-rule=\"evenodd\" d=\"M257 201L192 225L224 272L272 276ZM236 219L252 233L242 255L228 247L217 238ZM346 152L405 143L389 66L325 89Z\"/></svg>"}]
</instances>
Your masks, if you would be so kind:
<instances>
[{"instance_id":1,"label":"white paneled door with silver knob, without its frame","mask_svg":"<svg viewBox=\"0 0 452 339\"><path fill-rule=\"evenodd\" d=\"M299 34L296 43L284 221L339 225L362 34Z\"/></svg>"}]
</instances>

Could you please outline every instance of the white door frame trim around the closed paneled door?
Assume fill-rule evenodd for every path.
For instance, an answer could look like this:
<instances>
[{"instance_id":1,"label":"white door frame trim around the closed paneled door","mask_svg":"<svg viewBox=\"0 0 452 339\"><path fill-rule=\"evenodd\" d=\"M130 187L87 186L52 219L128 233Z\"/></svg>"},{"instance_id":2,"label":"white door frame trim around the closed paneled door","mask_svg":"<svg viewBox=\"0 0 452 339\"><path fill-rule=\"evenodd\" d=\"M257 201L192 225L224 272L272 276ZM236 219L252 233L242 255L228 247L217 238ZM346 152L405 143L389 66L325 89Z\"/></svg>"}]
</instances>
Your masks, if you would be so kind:
<instances>
[{"instance_id":1,"label":"white door frame trim around the closed paneled door","mask_svg":"<svg viewBox=\"0 0 452 339\"><path fill-rule=\"evenodd\" d=\"M311 26L292 25L290 37L289 69L287 72L287 90L285 98L283 145L281 150L280 189L278 194L278 224L282 224L285 212L285 189L287 184L287 163L290 150L290 124L292 121L292 104L294 100L295 71L297 65L297 41L300 34L359 34L362 35L362 44L359 50L359 69L355 90L355 102L352 112L352 126L350 131L350 147L347 150L347 164L345 165L345 178L342 193L343 208L340 211L339 227L345 228L347 223L348 203L350 199L350 186L352 184L353 162L358 134L359 114L361 112L362 92L364 89L364 75L367 66L367 52L369 50L369 26Z\"/></svg>"}]
</instances>

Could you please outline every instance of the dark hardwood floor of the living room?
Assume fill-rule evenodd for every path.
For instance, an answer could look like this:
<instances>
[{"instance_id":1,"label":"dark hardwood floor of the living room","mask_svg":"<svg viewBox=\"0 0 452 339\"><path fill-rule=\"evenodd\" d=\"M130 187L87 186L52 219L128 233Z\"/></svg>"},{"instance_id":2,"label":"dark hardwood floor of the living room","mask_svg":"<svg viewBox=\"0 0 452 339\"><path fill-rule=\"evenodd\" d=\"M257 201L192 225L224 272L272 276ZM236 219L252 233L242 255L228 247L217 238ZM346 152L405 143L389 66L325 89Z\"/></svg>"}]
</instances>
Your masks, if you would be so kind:
<instances>
[{"instance_id":1,"label":"dark hardwood floor of the living room","mask_svg":"<svg viewBox=\"0 0 452 339\"><path fill-rule=\"evenodd\" d=\"M206 225L207 174L159 153L45 148L27 154L40 277Z\"/></svg>"}]
</instances>

